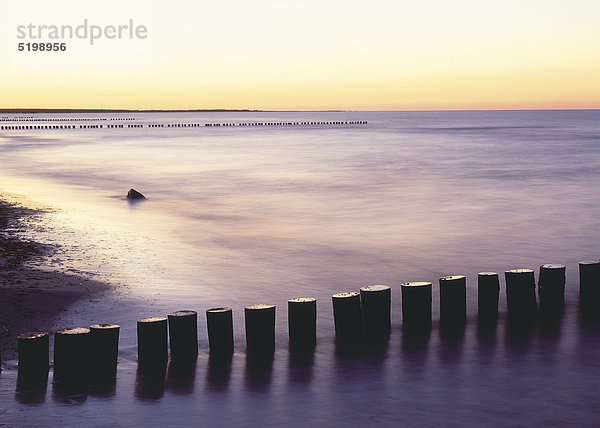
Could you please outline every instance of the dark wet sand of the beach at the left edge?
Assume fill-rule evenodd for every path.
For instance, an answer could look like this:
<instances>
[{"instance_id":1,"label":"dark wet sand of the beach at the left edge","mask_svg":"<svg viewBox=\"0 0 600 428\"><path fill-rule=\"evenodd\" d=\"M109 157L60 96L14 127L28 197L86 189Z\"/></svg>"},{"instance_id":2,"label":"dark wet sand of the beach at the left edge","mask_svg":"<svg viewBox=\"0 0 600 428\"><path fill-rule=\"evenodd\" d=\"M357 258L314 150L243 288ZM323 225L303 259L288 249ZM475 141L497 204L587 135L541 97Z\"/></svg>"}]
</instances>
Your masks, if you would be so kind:
<instances>
[{"instance_id":1,"label":"dark wet sand of the beach at the left edge","mask_svg":"<svg viewBox=\"0 0 600 428\"><path fill-rule=\"evenodd\" d=\"M109 286L79 275L41 269L56 247L22 238L21 232L43 210L7 202L0 195L0 350L16 357L19 334L49 331L69 305Z\"/></svg>"}]
</instances>

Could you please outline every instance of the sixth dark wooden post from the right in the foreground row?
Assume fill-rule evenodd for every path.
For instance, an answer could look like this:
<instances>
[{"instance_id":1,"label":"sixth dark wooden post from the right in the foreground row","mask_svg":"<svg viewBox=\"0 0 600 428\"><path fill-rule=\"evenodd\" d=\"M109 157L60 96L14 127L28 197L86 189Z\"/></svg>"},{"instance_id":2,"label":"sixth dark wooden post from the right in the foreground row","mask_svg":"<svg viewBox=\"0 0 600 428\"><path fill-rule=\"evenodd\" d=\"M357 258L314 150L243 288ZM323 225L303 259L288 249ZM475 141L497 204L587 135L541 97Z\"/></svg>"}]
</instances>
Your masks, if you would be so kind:
<instances>
[{"instance_id":1,"label":"sixth dark wooden post from the right in the foreground row","mask_svg":"<svg viewBox=\"0 0 600 428\"><path fill-rule=\"evenodd\" d=\"M431 327L431 282L404 282L402 290L402 324L414 329Z\"/></svg>"}]
</instances>

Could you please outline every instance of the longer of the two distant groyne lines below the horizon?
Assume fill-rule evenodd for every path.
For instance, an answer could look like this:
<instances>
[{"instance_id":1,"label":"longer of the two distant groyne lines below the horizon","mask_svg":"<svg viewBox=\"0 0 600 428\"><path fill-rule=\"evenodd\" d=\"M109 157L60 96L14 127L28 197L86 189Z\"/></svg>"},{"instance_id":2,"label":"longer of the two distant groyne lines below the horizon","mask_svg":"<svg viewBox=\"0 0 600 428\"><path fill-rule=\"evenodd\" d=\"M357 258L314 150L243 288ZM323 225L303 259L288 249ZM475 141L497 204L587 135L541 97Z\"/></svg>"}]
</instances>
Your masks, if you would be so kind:
<instances>
[{"instance_id":1,"label":"longer of the two distant groyne lines below the horizon","mask_svg":"<svg viewBox=\"0 0 600 428\"><path fill-rule=\"evenodd\" d=\"M56 119L56 121L126 121L135 120L134 118L110 118L110 119ZM25 121L33 121L25 119ZM55 121L54 119L39 120L35 122ZM294 121L294 122L223 122L223 123L128 123L128 124L90 124L90 125L0 125L3 131L20 130L50 130L50 129L125 129L125 128L228 128L228 127L256 127L256 126L348 126L348 125L366 125L366 120L343 120L343 121Z\"/></svg>"}]
</instances>

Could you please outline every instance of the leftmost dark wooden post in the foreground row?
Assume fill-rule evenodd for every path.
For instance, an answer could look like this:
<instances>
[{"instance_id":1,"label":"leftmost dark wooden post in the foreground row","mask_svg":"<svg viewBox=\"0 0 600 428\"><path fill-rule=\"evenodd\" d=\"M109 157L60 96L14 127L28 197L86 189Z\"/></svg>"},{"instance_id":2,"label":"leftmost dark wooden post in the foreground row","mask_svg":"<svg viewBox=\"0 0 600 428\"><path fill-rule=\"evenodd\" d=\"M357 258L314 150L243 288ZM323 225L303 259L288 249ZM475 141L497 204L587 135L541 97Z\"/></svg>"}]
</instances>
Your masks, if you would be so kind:
<instances>
[{"instance_id":1,"label":"leftmost dark wooden post in the foreground row","mask_svg":"<svg viewBox=\"0 0 600 428\"><path fill-rule=\"evenodd\" d=\"M41 331L17 337L19 376L40 376L48 373L50 365L50 334Z\"/></svg>"}]
</instances>

